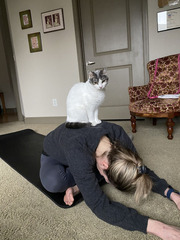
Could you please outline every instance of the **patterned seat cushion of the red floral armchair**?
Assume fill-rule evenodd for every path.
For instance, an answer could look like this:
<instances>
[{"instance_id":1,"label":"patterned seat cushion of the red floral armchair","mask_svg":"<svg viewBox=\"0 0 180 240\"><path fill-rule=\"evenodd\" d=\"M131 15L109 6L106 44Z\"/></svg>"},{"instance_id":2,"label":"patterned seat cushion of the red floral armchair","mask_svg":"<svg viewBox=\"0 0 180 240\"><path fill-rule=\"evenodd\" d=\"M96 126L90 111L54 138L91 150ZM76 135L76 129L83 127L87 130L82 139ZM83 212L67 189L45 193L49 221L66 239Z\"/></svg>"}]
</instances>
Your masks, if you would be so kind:
<instances>
[{"instance_id":1,"label":"patterned seat cushion of the red floral armchair","mask_svg":"<svg viewBox=\"0 0 180 240\"><path fill-rule=\"evenodd\" d=\"M143 99L131 102L129 110L135 113L171 113L180 112L179 99Z\"/></svg>"}]
</instances>

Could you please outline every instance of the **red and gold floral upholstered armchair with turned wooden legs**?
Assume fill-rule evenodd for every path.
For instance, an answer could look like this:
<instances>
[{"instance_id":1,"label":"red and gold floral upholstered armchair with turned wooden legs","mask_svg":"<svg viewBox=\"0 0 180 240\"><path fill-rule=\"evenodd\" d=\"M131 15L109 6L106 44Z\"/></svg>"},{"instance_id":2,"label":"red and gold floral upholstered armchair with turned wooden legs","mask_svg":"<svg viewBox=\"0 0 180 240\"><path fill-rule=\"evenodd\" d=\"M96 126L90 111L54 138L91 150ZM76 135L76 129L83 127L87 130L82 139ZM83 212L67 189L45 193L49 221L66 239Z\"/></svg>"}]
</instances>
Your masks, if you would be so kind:
<instances>
[{"instance_id":1,"label":"red and gold floral upholstered armchair with turned wooden legs","mask_svg":"<svg viewBox=\"0 0 180 240\"><path fill-rule=\"evenodd\" d=\"M173 118L180 116L180 54L152 60L147 64L149 83L129 87L132 132L136 132L136 116L167 118L168 139L173 138Z\"/></svg>"}]
</instances>

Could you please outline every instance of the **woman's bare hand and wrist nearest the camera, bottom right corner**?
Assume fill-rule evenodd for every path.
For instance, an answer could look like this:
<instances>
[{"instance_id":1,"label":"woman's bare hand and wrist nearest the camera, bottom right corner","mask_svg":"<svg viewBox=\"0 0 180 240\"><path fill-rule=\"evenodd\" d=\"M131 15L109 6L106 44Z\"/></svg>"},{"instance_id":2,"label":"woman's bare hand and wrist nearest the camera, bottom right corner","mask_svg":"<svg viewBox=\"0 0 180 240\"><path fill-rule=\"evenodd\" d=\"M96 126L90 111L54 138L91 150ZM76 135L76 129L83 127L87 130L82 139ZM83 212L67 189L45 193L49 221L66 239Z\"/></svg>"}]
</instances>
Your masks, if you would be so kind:
<instances>
[{"instance_id":1,"label":"woman's bare hand and wrist nearest the camera, bottom right corner","mask_svg":"<svg viewBox=\"0 0 180 240\"><path fill-rule=\"evenodd\" d=\"M147 233L154 234L163 240L179 240L180 228L149 219Z\"/></svg>"}]
</instances>

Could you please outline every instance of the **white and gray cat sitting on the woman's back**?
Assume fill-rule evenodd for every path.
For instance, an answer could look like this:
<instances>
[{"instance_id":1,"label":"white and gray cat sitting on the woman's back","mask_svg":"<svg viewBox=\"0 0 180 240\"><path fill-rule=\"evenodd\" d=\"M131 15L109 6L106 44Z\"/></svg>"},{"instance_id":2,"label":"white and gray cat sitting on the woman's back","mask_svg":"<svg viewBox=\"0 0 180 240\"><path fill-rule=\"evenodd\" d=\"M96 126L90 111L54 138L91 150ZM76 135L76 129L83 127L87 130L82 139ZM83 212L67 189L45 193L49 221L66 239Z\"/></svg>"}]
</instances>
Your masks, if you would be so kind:
<instances>
[{"instance_id":1,"label":"white and gray cat sitting on the woman's back","mask_svg":"<svg viewBox=\"0 0 180 240\"><path fill-rule=\"evenodd\" d=\"M105 69L90 71L86 82L76 83L67 96L67 128L81 128L87 125L96 126L98 108L105 98L105 87L108 84Z\"/></svg>"}]
</instances>

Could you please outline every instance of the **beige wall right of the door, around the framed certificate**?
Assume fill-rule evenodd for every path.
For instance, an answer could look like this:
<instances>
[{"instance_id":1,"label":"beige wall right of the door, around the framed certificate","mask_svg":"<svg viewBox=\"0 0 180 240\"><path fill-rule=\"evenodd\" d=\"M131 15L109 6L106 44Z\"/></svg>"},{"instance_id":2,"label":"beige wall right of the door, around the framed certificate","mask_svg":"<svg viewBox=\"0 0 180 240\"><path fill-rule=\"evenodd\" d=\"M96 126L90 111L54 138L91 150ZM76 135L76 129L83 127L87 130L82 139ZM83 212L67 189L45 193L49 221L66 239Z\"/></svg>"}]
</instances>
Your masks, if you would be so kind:
<instances>
[{"instance_id":1,"label":"beige wall right of the door, around the framed certificate","mask_svg":"<svg viewBox=\"0 0 180 240\"><path fill-rule=\"evenodd\" d=\"M148 0L149 59L180 53L180 28L157 32L157 12L180 7L180 4L164 8L158 7L157 0Z\"/></svg>"}]
</instances>

